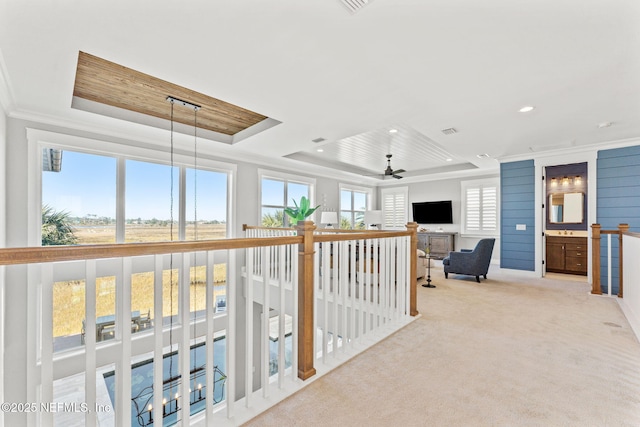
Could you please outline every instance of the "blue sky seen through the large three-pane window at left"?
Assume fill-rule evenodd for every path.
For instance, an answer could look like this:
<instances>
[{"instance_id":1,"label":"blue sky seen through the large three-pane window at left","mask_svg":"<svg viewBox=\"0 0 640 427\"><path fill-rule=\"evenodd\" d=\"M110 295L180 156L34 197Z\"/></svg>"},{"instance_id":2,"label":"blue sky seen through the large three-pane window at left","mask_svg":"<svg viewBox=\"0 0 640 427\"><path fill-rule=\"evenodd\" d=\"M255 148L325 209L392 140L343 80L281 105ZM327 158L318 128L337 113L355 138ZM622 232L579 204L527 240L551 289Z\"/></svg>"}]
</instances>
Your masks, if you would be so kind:
<instances>
[{"instance_id":1,"label":"blue sky seen through the large three-pane window at left","mask_svg":"<svg viewBox=\"0 0 640 427\"><path fill-rule=\"evenodd\" d=\"M174 168L173 217L178 218L178 171ZM127 160L125 216L169 219L171 216L170 167ZM187 220L193 220L194 204L199 220L226 219L227 175L187 171ZM42 173L42 203L71 216L116 216L116 159L63 151L62 170Z\"/></svg>"}]
</instances>

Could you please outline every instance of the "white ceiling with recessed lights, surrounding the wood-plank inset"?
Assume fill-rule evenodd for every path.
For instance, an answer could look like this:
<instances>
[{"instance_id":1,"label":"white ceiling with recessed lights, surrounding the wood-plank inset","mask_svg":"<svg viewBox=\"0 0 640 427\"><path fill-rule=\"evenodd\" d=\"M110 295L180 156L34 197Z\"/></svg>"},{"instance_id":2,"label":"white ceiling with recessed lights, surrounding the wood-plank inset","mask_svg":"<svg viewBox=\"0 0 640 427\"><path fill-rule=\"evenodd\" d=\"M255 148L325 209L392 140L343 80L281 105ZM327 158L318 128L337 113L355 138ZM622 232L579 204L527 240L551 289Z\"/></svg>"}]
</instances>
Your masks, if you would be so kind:
<instances>
[{"instance_id":1,"label":"white ceiling with recessed lights, surrounding the wood-plank inset","mask_svg":"<svg viewBox=\"0 0 640 427\"><path fill-rule=\"evenodd\" d=\"M640 136L638 0L0 0L9 115L140 132L71 108L78 51L281 121L212 150L299 170L483 173Z\"/></svg>"}]
</instances>

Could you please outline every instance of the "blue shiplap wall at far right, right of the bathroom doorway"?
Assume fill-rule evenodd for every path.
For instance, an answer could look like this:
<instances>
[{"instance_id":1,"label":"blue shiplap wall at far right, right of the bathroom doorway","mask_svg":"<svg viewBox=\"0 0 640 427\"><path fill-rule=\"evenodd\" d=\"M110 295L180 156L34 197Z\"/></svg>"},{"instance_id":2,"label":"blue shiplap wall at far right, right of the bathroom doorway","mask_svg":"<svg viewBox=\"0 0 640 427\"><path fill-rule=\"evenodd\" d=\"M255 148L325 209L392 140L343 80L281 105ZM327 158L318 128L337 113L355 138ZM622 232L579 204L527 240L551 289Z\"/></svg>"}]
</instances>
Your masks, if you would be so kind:
<instances>
[{"instance_id":1,"label":"blue shiplap wall at far right, right of the bathroom doorway","mask_svg":"<svg viewBox=\"0 0 640 427\"><path fill-rule=\"evenodd\" d=\"M640 231L640 146L598 151L596 222L603 230L615 230L629 224ZM602 292L607 292L607 236L600 246ZM611 292L619 290L618 239L611 239Z\"/></svg>"}]
</instances>

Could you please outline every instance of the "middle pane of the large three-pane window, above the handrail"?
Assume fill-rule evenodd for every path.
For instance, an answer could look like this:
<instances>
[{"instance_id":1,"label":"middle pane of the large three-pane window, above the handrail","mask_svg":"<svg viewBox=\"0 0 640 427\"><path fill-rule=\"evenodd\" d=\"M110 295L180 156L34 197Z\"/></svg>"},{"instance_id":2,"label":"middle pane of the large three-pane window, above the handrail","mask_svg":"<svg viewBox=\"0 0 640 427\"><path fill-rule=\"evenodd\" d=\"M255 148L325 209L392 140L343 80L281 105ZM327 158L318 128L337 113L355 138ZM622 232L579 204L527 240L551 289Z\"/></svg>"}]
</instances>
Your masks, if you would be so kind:
<instances>
[{"instance_id":1,"label":"middle pane of the large three-pane window, above the handrail","mask_svg":"<svg viewBox=\"0 0 640 427\"><path fill-rule=\"evenodd\" d=\"M125 242L178 240L178 168L127 160L126 169Z\"/></svg>"}]
</instances>

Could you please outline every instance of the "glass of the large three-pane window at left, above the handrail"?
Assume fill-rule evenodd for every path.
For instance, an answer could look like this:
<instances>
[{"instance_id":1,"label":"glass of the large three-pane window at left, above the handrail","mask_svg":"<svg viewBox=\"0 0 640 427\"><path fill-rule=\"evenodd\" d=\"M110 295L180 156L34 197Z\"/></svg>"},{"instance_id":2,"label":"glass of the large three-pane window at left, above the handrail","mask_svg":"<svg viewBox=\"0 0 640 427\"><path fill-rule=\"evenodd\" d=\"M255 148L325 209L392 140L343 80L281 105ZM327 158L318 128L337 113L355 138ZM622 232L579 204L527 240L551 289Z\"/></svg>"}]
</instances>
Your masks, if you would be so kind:
<instances>
[{"instance_id":1,"label":"glass of the large three-pane window at left, above the handrail","mask_svg":"<svg viewBox=\"0 0 640 427\"><path fill-rule=\"evenodd\" d=\"M183 165L172 169L168 164L50 147L42 154L44 245L227 236L226 171ZM118 177L124 185L117 185Z\"/></svg>"}]
</instances>

